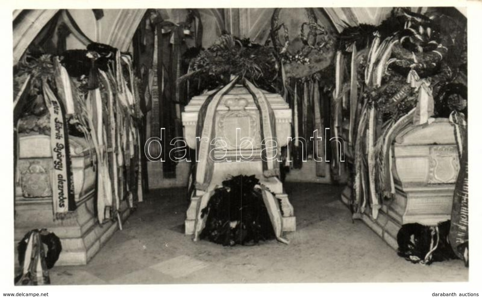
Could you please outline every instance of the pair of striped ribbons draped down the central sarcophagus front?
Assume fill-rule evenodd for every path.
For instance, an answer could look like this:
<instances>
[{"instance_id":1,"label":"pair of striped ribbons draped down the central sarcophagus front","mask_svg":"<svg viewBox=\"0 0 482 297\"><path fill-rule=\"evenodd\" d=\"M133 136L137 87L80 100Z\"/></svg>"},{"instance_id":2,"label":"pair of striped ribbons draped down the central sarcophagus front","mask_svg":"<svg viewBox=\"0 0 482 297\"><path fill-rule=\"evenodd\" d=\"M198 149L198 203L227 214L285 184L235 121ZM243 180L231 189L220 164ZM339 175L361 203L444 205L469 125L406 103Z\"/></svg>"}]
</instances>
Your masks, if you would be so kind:
<instances>
[{"instance_id":1,"label":"pair of striped ribbons draped down the central sarcophagus front","mask_svg":"<svg viewBox=\"0 0 482 297\"><path fill-rule=\"evenodd\" d=\"M197 149L197 164L196 164L196 189L207 191L213 175L213 160L210 157L210 152L214 148L214 143L211 140L215 137L215 117L216 110L221 102L221 99L226 95L232 87L240 80L239 76L234 77L228 85L222 87L218 91L211 94L202 104L198 114L198 122L196 127L196 149ZM248 89L253 96L254 104L258 108L260 117L260 132L261 139L263 139L261 147L263 160L263 174L266 177L278 176L280 174L278 163L278 149L269 149L270 140L276 140L276 124L274 112L269 105L268 99L264 93L255 87L246 79L242 79L243 85ZM198 142L199 141L199 142Z\"/></svg>"}]
</instances>

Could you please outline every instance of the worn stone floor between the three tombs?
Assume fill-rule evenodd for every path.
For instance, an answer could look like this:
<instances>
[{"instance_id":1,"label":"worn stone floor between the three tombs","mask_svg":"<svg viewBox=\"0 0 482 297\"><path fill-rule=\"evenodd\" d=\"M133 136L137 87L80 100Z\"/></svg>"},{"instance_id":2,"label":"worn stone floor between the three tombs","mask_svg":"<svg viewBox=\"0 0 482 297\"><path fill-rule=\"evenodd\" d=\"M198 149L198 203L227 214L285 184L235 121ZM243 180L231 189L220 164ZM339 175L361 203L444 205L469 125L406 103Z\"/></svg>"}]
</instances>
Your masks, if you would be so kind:
<instances>
[{"instance_id":1,"label":"worn stone floor between the three tombs","mask_svg":"<svg viewBox=\"0 0 482 297\"><path fill-rule=\"evenodd\" d=\"M287 183L297 231L289 245L223 247L183 233L186 189L151 191L85 266L54 267L52 285L465 282L462 260L412 264L340 202L342 188Z\"/></svg>"}]
</instances>

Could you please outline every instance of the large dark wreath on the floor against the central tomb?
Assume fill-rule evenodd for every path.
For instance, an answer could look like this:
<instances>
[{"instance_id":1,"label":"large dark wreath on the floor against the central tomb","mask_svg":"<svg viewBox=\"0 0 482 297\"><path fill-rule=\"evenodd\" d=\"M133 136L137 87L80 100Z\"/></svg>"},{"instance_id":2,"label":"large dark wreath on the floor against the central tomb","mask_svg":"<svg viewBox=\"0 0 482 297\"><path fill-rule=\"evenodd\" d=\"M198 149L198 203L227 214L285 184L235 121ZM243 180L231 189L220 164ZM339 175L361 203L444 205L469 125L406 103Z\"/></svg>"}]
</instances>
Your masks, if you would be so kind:
<instances>
[{"instance_id":1,"label":"large dark wreath on the floor against the central tomb","mask_svg":"<svg viewBox=\"0 0 482 297\"><path fill-rule=\"evenodd\" d=\"M237 175L223 181L223 187L214 190L208 205L201 210L201 216L207 216L201 239L223 246L253 245L274 239L263 200L265 189L254 175Z\"/></svg>"}]
</instances>

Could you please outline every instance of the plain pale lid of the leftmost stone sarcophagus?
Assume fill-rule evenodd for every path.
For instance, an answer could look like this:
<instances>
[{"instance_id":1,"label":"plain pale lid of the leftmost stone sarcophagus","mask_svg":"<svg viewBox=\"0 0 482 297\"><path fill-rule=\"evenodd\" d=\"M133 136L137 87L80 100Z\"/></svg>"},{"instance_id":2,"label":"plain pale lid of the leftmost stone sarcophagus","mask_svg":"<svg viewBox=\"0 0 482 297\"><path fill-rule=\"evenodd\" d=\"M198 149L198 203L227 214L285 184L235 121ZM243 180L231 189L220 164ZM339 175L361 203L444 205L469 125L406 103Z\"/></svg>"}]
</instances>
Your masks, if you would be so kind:
<instances>
[{"instance_id":1,"label":"plain pale lid of the leftmost stone sarcophagus","mask_svg":"<svg viewBox=\"0 0 482 297\"><path fill-rule=\"evenodd\" d=\"M50 148L50 135L19 135L20 153L19 158L52 158ZM81 137L69 136L70 155L83 157L90 154L89 143Z\"/></svg>"}]
</instances>

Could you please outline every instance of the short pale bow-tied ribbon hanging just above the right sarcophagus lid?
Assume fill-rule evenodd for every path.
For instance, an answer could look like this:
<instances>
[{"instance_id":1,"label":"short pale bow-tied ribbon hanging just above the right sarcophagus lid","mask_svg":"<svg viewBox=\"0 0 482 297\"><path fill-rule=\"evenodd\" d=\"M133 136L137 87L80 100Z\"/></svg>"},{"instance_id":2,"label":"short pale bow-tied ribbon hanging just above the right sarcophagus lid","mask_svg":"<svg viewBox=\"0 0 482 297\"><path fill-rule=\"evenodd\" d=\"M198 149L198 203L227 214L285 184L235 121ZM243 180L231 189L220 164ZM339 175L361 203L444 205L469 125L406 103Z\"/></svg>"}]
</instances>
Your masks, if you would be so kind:
<instances>
[{"instance_id":1,"label":"short pale bow-tied ribbon hanging just above the right sarcophagus lid","mask_svg":"<svg viewBox=\"0 0 482 297\"><path fill-rule=\"evenodd\" d=\"M414 125L425 124L428 118L434 114L433 96L430 82L427 79L420 79L415 70L410 70L407 76L407 83L418 90L418 102L415 107Z\"/></svg>"}]
</instances>

